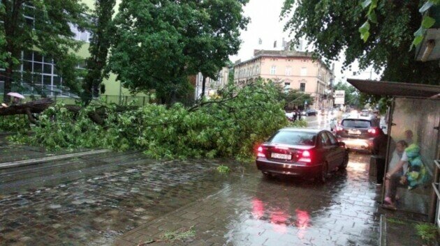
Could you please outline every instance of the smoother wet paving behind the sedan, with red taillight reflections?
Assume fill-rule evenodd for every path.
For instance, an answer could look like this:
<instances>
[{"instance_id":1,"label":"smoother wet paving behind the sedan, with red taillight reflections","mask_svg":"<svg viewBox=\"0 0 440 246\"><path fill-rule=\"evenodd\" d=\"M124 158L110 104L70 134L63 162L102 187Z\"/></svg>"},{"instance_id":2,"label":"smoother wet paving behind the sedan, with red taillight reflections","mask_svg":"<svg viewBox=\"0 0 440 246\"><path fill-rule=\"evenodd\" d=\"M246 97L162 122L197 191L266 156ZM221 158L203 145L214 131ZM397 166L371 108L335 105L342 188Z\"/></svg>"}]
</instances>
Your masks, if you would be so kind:
<instances>
[{"instance_id":1,"label":"smoother wet paving behind the sedan, with red taillight reflections","mask_svg":"<svg viewBox=\"0 0 440 246\"><path fill-rule=\"evenodd\" d=\"M125 233L115 245L378 245L379 189L352 153L325 185L233 174L223 190ZM179 238L173 240L173 238Z\"/></svg>"}]
</instances>

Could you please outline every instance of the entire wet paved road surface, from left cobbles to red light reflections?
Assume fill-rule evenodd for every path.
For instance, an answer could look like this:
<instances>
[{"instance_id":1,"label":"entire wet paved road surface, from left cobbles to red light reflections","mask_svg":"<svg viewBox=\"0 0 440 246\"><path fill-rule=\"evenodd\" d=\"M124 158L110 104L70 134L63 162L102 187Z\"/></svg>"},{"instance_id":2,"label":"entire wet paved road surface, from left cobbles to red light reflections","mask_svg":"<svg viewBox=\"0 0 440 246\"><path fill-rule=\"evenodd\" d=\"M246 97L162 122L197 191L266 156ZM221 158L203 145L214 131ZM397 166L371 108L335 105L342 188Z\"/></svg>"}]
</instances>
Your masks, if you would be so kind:
<instances>
[{"instance_id":1,"label":"entire wet paved road surface, from left cobbles to red light reflections","mask_svg":"<svg viewBox=\"0 0 440 246\"><path fill-rule=\"evenodd\" d=\"M326 185L263 178L253 163L137 153L3 170L0 245L377 245L379 190L367 180L368 156L350 158ZM163 238L191 226L189 238Z\"/></svg>"}]
</instances>

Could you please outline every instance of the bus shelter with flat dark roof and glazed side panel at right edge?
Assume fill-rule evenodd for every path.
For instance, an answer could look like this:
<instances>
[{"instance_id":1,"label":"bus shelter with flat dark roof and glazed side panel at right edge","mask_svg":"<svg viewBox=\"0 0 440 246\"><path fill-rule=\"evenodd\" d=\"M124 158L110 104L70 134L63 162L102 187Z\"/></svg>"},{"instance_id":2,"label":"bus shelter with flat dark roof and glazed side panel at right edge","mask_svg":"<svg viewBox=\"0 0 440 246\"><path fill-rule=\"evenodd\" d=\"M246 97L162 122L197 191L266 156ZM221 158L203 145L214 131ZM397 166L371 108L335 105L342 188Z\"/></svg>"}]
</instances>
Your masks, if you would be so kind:
<instances>
[{"instance_id":1,"label":"bus shelter with flat dark roof and glazed side panel at right edge","mask_svg":"<svg viewBox=\"0 0 440 246\"><path fill-rule=\"evenodd\" d=\"M359 79L348 79L348 82L362 93L393 98L386 115L390 138L384 171L390 171L393 164L401 160L402 152L394 147L399 142L418 150L416 157L423 162L426 177L423 183L399 185L395 208L428 215L430 222L440 225L440 86ZM407 164L403 167L402 176L406 173ZM386 189L387 185L382 185L382 203L386 198Z\"/></svg>"}]
</instances>

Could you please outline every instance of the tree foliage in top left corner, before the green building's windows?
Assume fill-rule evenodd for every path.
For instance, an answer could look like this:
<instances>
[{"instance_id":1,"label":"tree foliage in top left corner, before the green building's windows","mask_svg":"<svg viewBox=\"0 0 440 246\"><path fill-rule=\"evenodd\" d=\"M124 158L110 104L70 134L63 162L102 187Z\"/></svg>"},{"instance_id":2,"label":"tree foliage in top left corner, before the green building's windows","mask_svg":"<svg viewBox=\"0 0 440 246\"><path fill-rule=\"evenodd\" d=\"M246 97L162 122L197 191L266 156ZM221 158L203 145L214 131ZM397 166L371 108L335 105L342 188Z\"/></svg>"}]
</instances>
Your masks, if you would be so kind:
<instances>
[{"instance_id":1,"label":"tree foliage in top left corner, before the green building's windows","mask_svg":"<svg viewBox=\"0 0 440 246\"><path fill-rule=\"evenodd\" d=\"M4 95L10 92L13 71L17 70L22 52L38 51L54 59L64 85L80 91L78 57L71 50L81 43L74 40L69 24L80 29L87 25L87 7L78 0L3 0L0 1L0 70ZM6 102L9 97L3 97Z\"/></svg>"}]
</instances>

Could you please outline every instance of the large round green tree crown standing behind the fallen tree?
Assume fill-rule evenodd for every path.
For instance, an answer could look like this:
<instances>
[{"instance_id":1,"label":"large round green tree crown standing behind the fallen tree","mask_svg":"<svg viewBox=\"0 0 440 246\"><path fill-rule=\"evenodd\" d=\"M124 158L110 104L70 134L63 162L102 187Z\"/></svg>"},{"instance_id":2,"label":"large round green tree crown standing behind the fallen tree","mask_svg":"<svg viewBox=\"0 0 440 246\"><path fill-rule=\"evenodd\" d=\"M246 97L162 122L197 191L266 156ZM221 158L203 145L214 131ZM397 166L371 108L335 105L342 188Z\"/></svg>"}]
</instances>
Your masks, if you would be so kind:
<instances>
[{"instance_id":1,"label":"large round green tree crown standing behind the fallen tree","mask_svg":"<svg viewBox=\"0 0 440 246\"><path fill-rule=\"evenodd\" d=\"M216 78L240 46L247 0L123 0L115 17L109 70L133 92L162 102L189 89L188 76Z\"/></svg>"}]
</instances>

